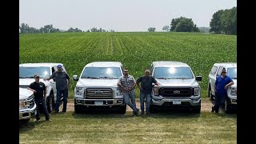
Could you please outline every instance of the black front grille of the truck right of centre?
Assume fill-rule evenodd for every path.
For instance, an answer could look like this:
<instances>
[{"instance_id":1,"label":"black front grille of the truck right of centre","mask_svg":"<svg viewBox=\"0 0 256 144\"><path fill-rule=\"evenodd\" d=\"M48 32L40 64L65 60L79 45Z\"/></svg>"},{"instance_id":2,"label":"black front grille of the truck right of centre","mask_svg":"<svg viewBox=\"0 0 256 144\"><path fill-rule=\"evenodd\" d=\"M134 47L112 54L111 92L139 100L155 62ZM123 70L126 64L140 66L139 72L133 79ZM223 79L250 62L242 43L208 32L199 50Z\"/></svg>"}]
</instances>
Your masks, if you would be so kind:
<instances>
[{"instance_id":1,"label":"black front grille of the truck right of centre","mask_svg":"<svg viewBox=\"0 0 256 144\"><path fill-rule=\"evenodd\" d=\"M192 88L162 88L159 94L164 98L187 98L193 95Z\"/></svg>"}]
</instances>

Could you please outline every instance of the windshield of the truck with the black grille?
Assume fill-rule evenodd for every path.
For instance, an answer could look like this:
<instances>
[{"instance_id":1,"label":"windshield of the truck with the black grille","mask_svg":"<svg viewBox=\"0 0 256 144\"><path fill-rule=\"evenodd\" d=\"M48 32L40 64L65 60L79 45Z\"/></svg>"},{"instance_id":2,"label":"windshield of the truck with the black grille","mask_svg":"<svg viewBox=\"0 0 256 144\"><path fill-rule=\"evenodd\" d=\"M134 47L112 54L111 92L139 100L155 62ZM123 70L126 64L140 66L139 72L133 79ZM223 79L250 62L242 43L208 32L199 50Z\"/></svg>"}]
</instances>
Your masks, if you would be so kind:
<instances>
[{"instance_id":1,"label":"windshield of the truck with the black grille","mask_svg":"<svg viewBox=\"0 0 256 144\"><path fill-rule=\"evenodd\" d=\"M190 79L194 76L190 67L155 67L154 78Z\"/></svg>"}]
</instances>

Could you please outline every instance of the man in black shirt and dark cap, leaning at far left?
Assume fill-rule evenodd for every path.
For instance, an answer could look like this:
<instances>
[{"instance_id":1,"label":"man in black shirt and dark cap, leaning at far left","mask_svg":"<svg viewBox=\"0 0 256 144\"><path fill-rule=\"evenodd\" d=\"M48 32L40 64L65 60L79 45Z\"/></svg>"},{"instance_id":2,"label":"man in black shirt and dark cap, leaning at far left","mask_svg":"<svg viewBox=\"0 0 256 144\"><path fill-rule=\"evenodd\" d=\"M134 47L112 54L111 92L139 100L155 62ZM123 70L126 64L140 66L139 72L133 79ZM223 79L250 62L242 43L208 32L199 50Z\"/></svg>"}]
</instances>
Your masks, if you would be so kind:
<instances>
[{"instance_id":1,"label":"man in black shirt and dark cap, leaning at far left","mask_svg":"<svg viewBox=\"0 0 256 144\"><path fill-rule=\"evenodd\" d=\"M46 108L46 85L43 82L39 82L39 74L34 75L35 82L32 82L30 86L28 87L29 90L32 90L34 92L34 101L37 106L39 106L40 103L42 103L43 112L46 117L46 121L50 121L50 115L48 113L48 110ZM37 108L37 114L35 115L37 121L40 119L40 112L39 108Z\"/></svg>"}]
</instances>

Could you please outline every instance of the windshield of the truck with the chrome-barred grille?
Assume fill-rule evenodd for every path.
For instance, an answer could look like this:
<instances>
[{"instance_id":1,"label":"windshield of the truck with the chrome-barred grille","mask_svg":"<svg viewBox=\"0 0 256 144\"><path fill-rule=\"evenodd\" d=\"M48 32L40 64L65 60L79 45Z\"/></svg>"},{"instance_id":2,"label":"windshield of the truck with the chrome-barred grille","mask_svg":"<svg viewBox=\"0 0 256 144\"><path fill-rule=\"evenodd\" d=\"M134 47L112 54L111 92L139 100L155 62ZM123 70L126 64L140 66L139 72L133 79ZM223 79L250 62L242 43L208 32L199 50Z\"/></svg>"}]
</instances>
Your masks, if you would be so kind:
<instances>
[{"instance_id":1,"label":"windshield of the truck with the chrome-barred grille","mask_svg":"<svg viewBox=\"0 0 256 144\"><path fill-rule=\"evenodd\" d=\"M118 79L121 75L119 67L86 67L81 78Z\"/></svg>"}]
</instances>

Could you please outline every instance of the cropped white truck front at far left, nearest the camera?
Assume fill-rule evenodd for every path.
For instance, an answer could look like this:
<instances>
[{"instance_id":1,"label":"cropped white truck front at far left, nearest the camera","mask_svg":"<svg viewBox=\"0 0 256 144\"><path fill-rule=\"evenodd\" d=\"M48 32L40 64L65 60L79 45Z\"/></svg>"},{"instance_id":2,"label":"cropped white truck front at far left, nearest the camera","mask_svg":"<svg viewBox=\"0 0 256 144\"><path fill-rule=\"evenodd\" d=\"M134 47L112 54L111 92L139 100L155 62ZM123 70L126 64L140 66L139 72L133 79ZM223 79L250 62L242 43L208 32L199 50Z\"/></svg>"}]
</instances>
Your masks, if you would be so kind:
<instances>
[{"instance_id":1,"label":"cropped white truck front at far left, nearest the camera","mask_svg":"<svg viewBox=\"0 0 256 144\"><path fill-rule=\"evenodd\" d=\"M19 88L19 122L20 124L30 121L37 112L34 102L34 93L31 90Z\"/></svg>"}]
</instances>

